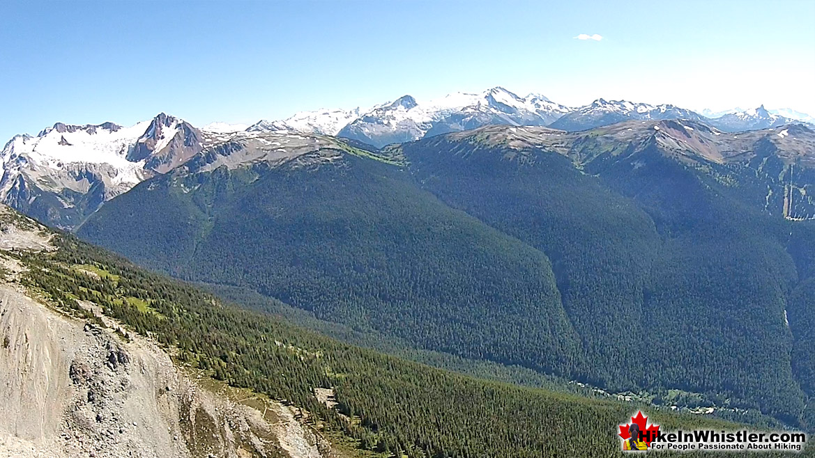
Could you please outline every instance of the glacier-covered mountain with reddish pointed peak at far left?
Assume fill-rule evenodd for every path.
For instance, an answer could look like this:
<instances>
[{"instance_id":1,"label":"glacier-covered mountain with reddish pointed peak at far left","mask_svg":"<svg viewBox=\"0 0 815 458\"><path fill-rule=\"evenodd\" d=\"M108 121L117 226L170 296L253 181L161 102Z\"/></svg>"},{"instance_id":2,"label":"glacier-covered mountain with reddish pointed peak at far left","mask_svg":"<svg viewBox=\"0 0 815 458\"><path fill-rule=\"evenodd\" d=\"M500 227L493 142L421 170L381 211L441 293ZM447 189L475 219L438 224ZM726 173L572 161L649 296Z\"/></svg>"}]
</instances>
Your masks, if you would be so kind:
<instances>
[{"instance_id":1,"label":"glacier-covered mountain with reddish pointed peak at far left","mask_svg":"<svg viewBox=\"0 0 815 458\"><path fill-rule=\"evenodd\" d=\"M81 223L105 200L202 148L202 134L164 113L130 127L56 123L17 135L0 155L0 202L51 225Z\"/></svg>"}]
</instances>

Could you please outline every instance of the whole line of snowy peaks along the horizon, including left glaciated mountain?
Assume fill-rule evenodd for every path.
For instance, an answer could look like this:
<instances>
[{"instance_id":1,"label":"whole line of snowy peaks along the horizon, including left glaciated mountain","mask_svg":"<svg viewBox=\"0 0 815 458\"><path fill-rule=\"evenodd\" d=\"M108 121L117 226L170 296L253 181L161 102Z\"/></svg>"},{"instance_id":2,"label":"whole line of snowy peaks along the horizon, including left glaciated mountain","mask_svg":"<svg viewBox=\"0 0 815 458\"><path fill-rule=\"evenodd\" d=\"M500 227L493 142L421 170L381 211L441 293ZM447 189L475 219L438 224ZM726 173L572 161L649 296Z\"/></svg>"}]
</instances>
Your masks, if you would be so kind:
<instances>
[{"instance_id":1,"label":"whole line of snowy peaks along the horizon, including left glaciated mountain","mask_svg":"<svg viewBox=\"0 0 815 458\"><path fill-rule=\"evenodd\" d=\"M795 116L801 117L800 113ZM244 137L264 133L329 135L381 147L483 125L579 131L625 120L663 119L701 121L723 132L799 122L764 107L712 120L672 105L604 99L571 108L540 94L520 97L496 87L480 94L450 94L427 103L406 95L368 109L305 111L286 120L261 120L250 126L213 123L199 129L164 113L130 127L112 122L56 123L36 136L21 134L7 142L0 153L0 202L50 225L70 229L110 198L184 164L205 147L227 142L235 133Z\"/></svg>"}]
</instances>

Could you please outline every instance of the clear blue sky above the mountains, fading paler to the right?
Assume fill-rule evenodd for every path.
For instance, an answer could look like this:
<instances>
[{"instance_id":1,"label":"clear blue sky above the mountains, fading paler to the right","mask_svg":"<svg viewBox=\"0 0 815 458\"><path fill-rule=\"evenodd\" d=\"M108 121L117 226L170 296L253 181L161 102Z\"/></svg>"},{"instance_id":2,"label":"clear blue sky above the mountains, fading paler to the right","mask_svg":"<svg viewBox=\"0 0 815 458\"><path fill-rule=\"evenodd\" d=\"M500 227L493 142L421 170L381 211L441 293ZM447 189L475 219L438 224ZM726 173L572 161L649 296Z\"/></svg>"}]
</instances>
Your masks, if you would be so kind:
<instances>
[{"instance_id":1,"label":"clear blue sky above the mountains, fading paler to the right","mask_svg":"<svg viewBox=\"0 0 815 458\"><path fill-rule=\"evenodd\" d=\"M813 0L2 0L0 18L0 145L56 121L251 123L495 85L815 114Z\"/></svg>"}]
</instances>

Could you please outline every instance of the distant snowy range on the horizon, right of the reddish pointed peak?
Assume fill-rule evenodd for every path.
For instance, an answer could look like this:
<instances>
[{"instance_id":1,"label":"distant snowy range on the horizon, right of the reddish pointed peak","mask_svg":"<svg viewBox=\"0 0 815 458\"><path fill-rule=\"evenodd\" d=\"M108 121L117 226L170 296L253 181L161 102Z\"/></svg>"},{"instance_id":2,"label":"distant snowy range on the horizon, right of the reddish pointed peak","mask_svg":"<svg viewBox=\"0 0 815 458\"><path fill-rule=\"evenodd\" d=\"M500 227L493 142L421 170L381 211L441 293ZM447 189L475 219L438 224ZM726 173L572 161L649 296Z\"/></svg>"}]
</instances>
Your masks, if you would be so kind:
<instances>
[{"instance_id":1,"label":"distant snowy range on the horizon, right of the reddish pointed peak","mask_svg":"<svg viewBox=\"0 0 815 458\"><path fill-rule=\"evenodd\" d=\"M479 94L449 94L425 103L404 95L368 109L302 111L286 120L258 121L249 129L337 135L381 147L488 124L544 125L575 131L623 120L686 119L703 120L718 129L736 132L796 121L813 123L811 116L788 108L767 111L762 106L751 110L705 110L704 113L703 116L670 104L650 105L602 98L584 107L566 107L541 94L521 97L495 87ZM722 116L725 117L718 119Z\"/></svg>"}]
</instances>

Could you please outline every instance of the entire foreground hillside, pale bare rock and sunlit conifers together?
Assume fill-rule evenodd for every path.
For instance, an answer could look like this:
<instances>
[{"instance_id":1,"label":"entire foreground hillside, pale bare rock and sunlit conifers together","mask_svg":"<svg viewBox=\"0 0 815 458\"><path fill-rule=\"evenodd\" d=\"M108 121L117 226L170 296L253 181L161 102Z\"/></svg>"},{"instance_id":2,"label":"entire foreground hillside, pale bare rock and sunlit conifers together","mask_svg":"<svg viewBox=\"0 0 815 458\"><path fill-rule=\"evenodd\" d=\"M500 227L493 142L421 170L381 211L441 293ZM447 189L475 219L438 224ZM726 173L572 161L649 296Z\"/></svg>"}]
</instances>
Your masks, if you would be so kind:
<instances>
[{"instance_id":1,"label":"entire foreground hillside, pale bare rock and sunlit conifers together","mask_svg":"<svg viewBox=\"0 0 815 458\"><path fill-rule=\"evenodd\" d=\"M619 453L609 424L630 403L486 382L352 347L222 303L10 210L2 221L4 233L16 228L48 246L2 252L9 343L0 370L52 384L45 399L2 392L26 406L0 422L12 456ZM43 320L51 325L35 329ZM27 348L36 349L33 359L20 357ZM647 412L668 428L733 425ZM51 429L15 430L42 413L48 423L35 422Z\"/></svg>"}]
</instances>

